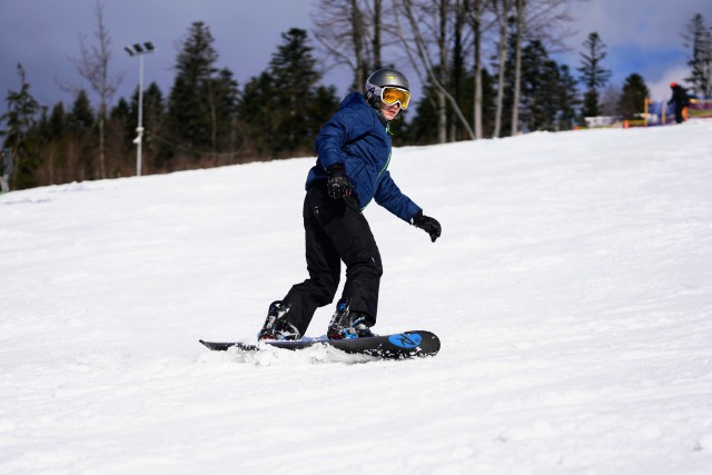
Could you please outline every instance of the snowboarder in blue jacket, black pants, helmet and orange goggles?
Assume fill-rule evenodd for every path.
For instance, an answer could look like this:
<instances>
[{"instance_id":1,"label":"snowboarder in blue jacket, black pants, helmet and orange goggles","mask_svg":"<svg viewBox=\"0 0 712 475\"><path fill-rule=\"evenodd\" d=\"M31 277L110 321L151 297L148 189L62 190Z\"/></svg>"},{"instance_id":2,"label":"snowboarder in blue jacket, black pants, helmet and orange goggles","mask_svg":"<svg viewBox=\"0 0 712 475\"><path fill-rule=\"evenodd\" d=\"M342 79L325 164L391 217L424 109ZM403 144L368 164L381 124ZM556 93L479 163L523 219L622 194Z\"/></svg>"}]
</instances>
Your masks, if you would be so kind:
<instances>
[{"instance_id":1,"label":"snowboarder in blue jacket, black pants, helmet and orange goggles","mask_svg":"<svg viewBox=\"0 0 712 475\"><path fill-rule=\"evenodd\" d=\"M327 337L373 336L383 268L376 240L362 214L372 199L425 230L433 243L441 236L439 222L423 215L387 170L389 123L409 101L406 77L394 69L379 69L366 80L365 96L350 92L322 127L303 211L309 278L269 306L258 339L299 339L316 309L334 301L342 260L346 284Z\"/></svg>"}]
</instances>

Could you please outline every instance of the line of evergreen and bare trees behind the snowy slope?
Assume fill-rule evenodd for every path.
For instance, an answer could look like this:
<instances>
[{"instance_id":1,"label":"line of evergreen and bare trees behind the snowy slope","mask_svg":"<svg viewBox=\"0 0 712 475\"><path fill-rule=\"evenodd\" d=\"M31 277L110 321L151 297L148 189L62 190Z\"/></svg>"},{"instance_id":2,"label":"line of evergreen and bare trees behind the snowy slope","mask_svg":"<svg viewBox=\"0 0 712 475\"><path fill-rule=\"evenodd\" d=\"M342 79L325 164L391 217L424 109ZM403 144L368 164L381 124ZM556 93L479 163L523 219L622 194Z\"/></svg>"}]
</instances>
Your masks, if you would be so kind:
<instances>
[{"instance_id":1,"label":"line of evergreen and bare trees behind the snowy slope","mask_svg":"<svg viewBox=\"0 0 712 475\"><path fill-rule=\"evenodd\" d=\"M553 58L568 34L568 3L319 0L312 37L297 28L284 32L267 69L245 85L219 66L209 26L194 22L180 40L170 90L151 82L142 91L142 172L312 155L314 137L340 100L334 86L322 83L324 65L347 66L355 90L382 67L421 81L422 97L392 127L395 145L566 130L584 117L641 112L649 91L640 75L629 76L620 91L605 89L611 71L596 32L582 44L575 69ZM1 118L16 189L136 174L139 91L111 103L118 81L108 73L111 38L101 3L96 18L96 43L82 39L75 60L89 90L77 88L73 102L40 105L18 65L20 87L8 92ZM693 49L688 80L703 92L709 34L695 16L684 37Z\"/></svg>"}]
</instances>

